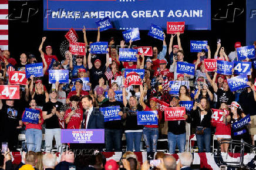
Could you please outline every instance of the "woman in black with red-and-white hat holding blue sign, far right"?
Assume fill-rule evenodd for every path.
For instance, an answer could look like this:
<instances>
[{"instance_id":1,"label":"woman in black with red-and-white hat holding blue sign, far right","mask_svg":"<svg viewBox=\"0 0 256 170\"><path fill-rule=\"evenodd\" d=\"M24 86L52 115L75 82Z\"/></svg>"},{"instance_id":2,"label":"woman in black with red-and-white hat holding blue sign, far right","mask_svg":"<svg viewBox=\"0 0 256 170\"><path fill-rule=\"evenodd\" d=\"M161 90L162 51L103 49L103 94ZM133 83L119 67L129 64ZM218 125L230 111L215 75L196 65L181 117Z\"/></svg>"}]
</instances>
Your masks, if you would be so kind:
<instances>
[{"instance_id":1,"label":"woman in black with red-and-white hat holding blue sign, far right","mask_svg":"<svg viewBox=\"0 0 256 170\"><path fill-rule=\"evenodd\" d=\"M244 118L246 115L242 112L240 104L238 104L236 101L233 101L231 105L229 106L231 110L231 126L236 123L237 121L240 121L242 118ZM231 138L232 140L241 141L244 140L248 144L251 144L251 137L247 128L247 125L244 125L241 128L233 129L231 128ZM235 152L240 152L240 144L235 145L234 147ZM248 149L248 148L247 148ZM247 151L248 152L248 151Z\"/></svg>"}]
</instances>

